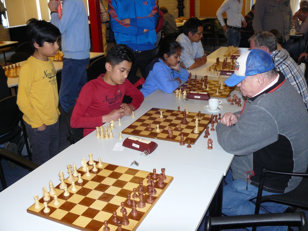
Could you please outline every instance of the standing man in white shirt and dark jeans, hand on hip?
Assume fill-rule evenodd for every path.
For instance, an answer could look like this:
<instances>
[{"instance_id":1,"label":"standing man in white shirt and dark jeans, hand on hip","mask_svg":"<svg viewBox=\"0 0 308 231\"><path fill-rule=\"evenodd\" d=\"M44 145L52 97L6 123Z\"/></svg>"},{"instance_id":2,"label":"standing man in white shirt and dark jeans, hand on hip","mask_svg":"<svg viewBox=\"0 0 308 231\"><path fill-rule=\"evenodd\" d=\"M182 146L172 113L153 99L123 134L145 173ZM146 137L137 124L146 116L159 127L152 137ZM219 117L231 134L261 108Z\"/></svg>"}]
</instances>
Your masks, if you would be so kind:
<instances>
[{"instance_id":1,"label":"standing man in white shirt and dark jeans, hand on hip","mask_svg":"<svg viewBox=\"0 0 308 231\"><path fill-rule=\"evenodd\" d=\"M243 0L225 0L216 12L217 18L225 31L228 40L228 46L238 47L241 41L241 27L246 27L247 22L241 14L243 8ZM227 14L227 25L222 18L222 14Z\"/></svg>"}]
</instances>

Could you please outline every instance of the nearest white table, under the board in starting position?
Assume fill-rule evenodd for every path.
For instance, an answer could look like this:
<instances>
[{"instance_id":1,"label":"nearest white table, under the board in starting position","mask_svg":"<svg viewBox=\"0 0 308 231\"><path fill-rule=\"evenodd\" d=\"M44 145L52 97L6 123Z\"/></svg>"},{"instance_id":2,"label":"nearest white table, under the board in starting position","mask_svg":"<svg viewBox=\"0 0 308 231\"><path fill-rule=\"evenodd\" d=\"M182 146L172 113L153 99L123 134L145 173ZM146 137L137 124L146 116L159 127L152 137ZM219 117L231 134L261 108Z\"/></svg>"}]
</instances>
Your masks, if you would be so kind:
<instances>
[{"instance_id":1,"label":"nearest white table, under the board in starting position","mask_svg":"<svg viewBox=\"0 0 308 231\"><path fill-rule=\"evenodd\" d=\"M96 138L95 138L96 139ZM59 184L59 170L67 174L67 164L81 166L81 159L94 160L101 157L106 163L129 167L133 160L139 162L138 169L152 171L166 168L166 175L174 180L142 221L137 230L153 230L159 221L159 230L196 230L222 179L222 172L193 168L139 156L127 152L109 152L90 145L71 145L45 164L29 173L0 193L1 230L76 230L26 212L34 204L33 196L42 197L42 187L48 188L49 180Z\"/></svg>"}]
</instances>

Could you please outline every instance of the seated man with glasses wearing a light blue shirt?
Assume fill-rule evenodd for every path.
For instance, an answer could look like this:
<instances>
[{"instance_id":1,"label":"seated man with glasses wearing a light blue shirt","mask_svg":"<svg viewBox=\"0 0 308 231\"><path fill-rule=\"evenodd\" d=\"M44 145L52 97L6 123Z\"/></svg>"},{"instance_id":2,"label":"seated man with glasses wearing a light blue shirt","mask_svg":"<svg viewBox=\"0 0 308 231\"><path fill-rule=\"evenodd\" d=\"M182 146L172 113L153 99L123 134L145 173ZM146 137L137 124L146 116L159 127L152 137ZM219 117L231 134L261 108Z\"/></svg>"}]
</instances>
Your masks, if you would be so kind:
<instances>
[{"instance_id":1,"label":"seated man with glasses wearing a light blue shirt","mask_svg":"<svg viewBox=\"0 0 308 231\"><path fill-rule=\"evenodd\" d=\"M176 41L181 44L180 67L188 70L206 63L206 55L201 43L204 23L198 18L190 18L184 24L184 30Z\"/></svg>"}]
</instances>

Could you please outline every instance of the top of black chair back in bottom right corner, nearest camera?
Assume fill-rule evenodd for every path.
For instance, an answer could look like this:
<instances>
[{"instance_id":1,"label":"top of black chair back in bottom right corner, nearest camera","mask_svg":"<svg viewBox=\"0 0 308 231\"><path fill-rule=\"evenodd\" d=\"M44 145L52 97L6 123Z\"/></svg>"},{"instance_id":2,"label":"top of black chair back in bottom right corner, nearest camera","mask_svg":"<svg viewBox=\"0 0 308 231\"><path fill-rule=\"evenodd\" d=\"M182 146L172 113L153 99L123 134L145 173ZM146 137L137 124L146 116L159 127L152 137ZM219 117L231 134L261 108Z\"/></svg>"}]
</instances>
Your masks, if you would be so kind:
<instances>
[{"instance_id":1,"label":"top of black chair back in bottom right corner, nearest camera","mask_svg":"<svg viewBox=\"0 0 308 231\"><path fill-rule=\"evenodd\" d=\"M241 216L210 217L205 218L205 230L210 231L212 226L229 226L228 228L244 228L254 226L288 225L298 226L299 230L306 227L306 215L299 213L265 213ZM230 227L231 226L231 227Z\"/></svg>"}]
</instances>

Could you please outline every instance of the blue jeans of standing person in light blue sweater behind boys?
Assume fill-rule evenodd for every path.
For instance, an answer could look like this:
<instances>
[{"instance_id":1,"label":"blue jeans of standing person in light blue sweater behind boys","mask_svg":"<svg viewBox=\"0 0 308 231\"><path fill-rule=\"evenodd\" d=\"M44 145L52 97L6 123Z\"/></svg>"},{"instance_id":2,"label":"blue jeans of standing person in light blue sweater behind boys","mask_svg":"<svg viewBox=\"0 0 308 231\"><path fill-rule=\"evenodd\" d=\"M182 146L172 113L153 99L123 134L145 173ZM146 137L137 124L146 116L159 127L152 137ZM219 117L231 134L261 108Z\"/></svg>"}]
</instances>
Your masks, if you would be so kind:
<instances>
[{"instance_id":1,"label":"blue jeans of standing person in light blue sweater behind boys","mask_svg":"<svg viewBox=\"0 0 308 231\"><path fill-rule=\"evenodd\" d=\"M86 68L90 59L63 59L59 103L67 111L75 105L79 92L87 83Z\"/></svg>"}]
</instances>

